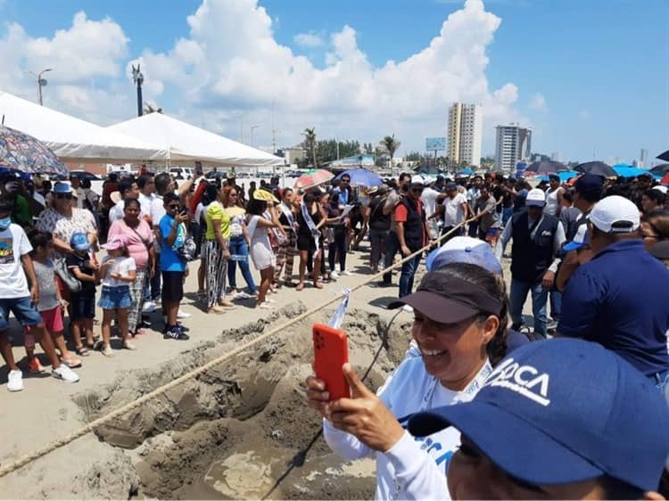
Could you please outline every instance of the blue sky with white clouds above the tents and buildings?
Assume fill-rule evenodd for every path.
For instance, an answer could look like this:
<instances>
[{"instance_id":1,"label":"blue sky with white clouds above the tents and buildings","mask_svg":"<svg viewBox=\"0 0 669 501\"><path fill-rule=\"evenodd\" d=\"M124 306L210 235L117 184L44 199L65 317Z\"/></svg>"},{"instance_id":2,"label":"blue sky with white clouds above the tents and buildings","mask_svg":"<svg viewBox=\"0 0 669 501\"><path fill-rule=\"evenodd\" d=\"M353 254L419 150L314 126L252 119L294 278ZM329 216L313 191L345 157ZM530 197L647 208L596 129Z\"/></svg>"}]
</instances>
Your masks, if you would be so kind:
<instances>
[{"instance_id":1,"label":"blue sky with white clouds above the tents and buildings","mask_svg":"<svg viewBox=\"0 0 669 501\"><path fill-rule=\"evenodd\" d=\"M99 125L144 101L271 148L318 138L398 156L445 136L450 103L533 127L533 152L632 162L669 149L666 0L0 0L0 90ZM0 112L2 112L0 110ZM274 135L272 130L275 130Z\"/></svg>"}]
</instances>

